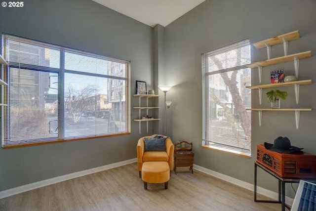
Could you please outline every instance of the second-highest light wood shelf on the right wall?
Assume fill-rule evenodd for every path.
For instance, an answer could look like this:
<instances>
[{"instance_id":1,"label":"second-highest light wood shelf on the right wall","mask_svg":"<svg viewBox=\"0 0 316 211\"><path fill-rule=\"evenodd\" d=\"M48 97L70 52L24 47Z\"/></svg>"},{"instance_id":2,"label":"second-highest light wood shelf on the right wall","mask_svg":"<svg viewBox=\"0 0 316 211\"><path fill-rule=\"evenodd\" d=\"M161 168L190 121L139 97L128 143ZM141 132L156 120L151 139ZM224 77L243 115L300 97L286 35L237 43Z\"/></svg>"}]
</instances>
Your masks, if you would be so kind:
<instances>
[{"instance_id":1,"label":"second-highest light wood shelf on the right wall","mask_svg":"<svg viewBox=\"0 0 316 211\"><path fill-rule=\"evenodd\" d=\"M281 57L276 57L273 59L267 59L267 60L263 60L263 61L259 61L259 62L254 62L254 63L247 65L247 67L249 67L249 68L255 68L258 66L265 67L265 66L269 66L269 65L273 65L273 64L293 61L294 58L304 59L304 58L308 58L311 56L312 56L312 51L309 50L309 51L305 51L305 52L294 53L294 54L287 55L287 56L281 56Z\"/></svg>"}]
</instances>

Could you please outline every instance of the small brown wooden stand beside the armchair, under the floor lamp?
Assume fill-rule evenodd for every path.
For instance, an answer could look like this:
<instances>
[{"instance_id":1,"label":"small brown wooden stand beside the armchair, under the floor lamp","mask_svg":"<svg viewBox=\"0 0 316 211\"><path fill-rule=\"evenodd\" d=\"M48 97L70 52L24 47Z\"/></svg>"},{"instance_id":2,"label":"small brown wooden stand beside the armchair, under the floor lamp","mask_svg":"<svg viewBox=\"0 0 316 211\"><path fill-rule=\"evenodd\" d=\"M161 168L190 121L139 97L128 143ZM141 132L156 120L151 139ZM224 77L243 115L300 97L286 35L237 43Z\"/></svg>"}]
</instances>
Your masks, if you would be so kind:
<instances>
[{"instance_id":1,"label":"small brown wooden stand beside the armchair, under the floor lamp","mask_svg":"<svg viewBox=\"0 0 316 211\"><path fill-rule=\"evenodd\" d=\"M180 141L174 144L174 172L177 174L177 167L190 167L193 173L193 144L192 142Z\"/></svg>"}]
</instances>

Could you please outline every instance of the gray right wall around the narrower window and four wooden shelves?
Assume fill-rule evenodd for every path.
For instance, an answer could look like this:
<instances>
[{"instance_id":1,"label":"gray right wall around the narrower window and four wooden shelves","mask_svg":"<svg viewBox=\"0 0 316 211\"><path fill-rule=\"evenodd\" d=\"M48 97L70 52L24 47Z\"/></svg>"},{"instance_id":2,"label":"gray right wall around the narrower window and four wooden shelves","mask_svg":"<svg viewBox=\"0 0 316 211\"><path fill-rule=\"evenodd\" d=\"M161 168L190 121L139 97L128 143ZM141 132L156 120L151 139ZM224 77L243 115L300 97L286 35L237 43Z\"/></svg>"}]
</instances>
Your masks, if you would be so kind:
<instances>
[{"instance_id":1,"label":"gray right wall around the narrower window and four wooden shelves","mask_svg":"<svg viewBox=\"0 0 316 211\"><path fill-rule=\"evenodd\" d=\"M202 149L202 86L201 53L220 48L243 39L250 42L299 30L301 39L289 42L288 53L311 50L316 54L316 1L315 0L207 0L165 28L164 58L165 79L175 84L169 98L173 141L194 142L195 164L237 179L253 183L256 145L272 142L287 136L292 145L304 147L316 154L316 112L301 112L300 127L295 128L294 112L264 112L262 126L258 113L252 112L252 157L242 158L212 150ZM265 49L252 47L252 61L267 58ZM282 56L282 45L272 47L272 58ZM299 79L316 82L316 57L300 61ZM270 83L270 70L284 69L294 74L292 62L265 67L263 84ZM257 70L252 74L252 84L259 84ZM316 108L315 84L302 85L300 101L296 105L293 87L282 87L288 98L282 107ZM263 107L269 107L263 93ZM253 107L258 107L258 91L252 94ZM276 191L277 182L259 171L259 185ZM287 188L289 189L289 188ZM288 191L290 192L290 191Z\"/></svg>"}]
</instances>

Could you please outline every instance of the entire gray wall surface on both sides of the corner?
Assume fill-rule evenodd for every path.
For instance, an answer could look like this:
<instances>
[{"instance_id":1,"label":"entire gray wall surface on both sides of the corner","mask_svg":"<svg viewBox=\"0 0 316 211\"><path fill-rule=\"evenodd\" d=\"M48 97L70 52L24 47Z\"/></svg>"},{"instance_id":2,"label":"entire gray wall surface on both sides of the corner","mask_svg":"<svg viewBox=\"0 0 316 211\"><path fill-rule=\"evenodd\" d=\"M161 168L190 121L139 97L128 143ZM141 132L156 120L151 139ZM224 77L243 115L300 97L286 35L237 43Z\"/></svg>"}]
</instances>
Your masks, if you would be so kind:
<instances>
[{"instance_id":1,"label":"entire gray wall surface on both sides of the corner","mask_svg":"<svg viewBox=\"0 0 316 211\"><path fill-rule=\"evenodd\" d=\"M298 29L302 38L289 43L289 53L312 50L314 54L315 11L315 0L207 0L166 28L152 29L91 0L28 0L23 8L0 7L0 32L130 60L131 94L135 80L146 81L148 89L155 91L159 83L174 84L167 93L167 100L173 101L167 110L167 134L174 142L194 142L195 164L253 183L258 143L273 142L276 136L284 135L293 145L316 154L316 113L302 112L296 130L293 113L265 112L259 127L257 113L253 112L250 159L202 149L201 53L246 38L257 42ZM280 56L281 50L281 46L273 47L272 57ZM264 49L252 48L252 61L266 59L265 53ZM300 80L316 81L315 63L315 57L301 60ZM269 83L269 71L278 68L292 73L294 69L292 63L264 68L263 83ZM257 72L252 82L258 84ZM289 95L282 106L296 106L293 88L282 90ZM316 108L316 99L311 97L314 90L315 84L301 86L299 107ZM163 109L163 92L159 94ZM138 99L132 97L131 107L137 103ZM252 103L258 106L256 91ZM265 98L262 106L269 106ZM131 119L137 115L131 109ZM149 134L162 133L162 121L153 124ZM0 191L135 158L137 140L147 133L145 125L142 134L137 123L131 122L131 126L130 135L0 149ZM260 186L276 190L275 179L264 172L259 172L259 177Z\"/></svg>"}]
</instances>

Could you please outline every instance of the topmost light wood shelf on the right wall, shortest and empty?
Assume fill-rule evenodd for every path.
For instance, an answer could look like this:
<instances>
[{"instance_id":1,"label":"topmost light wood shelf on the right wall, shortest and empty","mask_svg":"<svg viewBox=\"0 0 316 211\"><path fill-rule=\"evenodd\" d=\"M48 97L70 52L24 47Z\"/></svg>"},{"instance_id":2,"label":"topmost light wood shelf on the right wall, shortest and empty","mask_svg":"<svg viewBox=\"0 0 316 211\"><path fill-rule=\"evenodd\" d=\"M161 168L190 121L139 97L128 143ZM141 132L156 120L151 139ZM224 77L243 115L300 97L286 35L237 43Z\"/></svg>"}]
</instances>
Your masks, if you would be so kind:
<instances>
[{"instance_id":1,"label":"topmost light wood shelf on the right wall, shortest and empty","mask_svg":"<svg viewBox=\"0 0 316 211\"><path fill-rule=\"evenodd\" d=\"M294 32L289 32L283 35L279 35L273 38L269 38L267 40L263 40L260 42L255 42L253 43L253 45L257 48L264 48L266 47L266 44L268 45L276 45L276 44L280 44L283 42L283 39L285 39L286 41L292 41L292 40L297 40L300 38L300 34L298 32L298 30L294 31Z\"/></svg>"}]
</instances>

